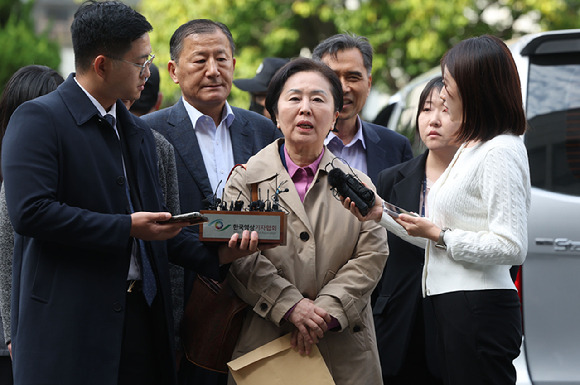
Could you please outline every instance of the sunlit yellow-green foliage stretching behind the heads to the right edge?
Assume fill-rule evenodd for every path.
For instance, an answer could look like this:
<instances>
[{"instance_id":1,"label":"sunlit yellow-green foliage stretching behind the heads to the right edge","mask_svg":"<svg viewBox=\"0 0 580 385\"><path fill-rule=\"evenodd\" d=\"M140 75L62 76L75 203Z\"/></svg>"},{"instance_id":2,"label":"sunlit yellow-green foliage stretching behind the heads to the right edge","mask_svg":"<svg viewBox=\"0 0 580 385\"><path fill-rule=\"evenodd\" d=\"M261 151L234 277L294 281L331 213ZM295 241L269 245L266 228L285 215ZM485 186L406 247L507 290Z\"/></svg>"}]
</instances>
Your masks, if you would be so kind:
<instances>
[{"instance_id":1,"label":"sunlit yellow-green foliage stretching behind the heads to the right edge","mask_svg":"<svg viewBox=\"0 0 580 385\"><path fill-rule=\"evenodd\" d=\"M524 20L541 30L579 28L579 9L580 0L141 1L141 11L155 28L152 44L160 67L169 60L173 31L191 18L221 21L231 29L235 78L254 76L264 57L296 57L335 33L352 32L368 37L374 47L373 86L386 92L436 66L460 40L484 33L517 37L526 33ZM161 87L165 105L179 97L167 73ZM234 86L230 103L245 108L248 96Z\"/></svg>"}]
</instances>

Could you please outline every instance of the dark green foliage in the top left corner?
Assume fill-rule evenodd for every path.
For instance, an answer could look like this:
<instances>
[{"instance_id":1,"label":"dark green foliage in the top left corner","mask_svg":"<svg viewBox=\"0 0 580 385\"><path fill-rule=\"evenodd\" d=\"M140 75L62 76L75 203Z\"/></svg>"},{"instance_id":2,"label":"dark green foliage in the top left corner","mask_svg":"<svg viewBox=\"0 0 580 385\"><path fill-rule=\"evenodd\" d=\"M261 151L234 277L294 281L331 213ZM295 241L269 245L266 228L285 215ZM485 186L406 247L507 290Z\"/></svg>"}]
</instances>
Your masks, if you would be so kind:
<instances>
[{"instance_id":1,"label":"dark green foliage in the top left corner","mask_svg":"<svg viewBox=\"0 0 580 385\"><path fill-rule=\"evenodd\" d=\"M6 0L1 0L5 9ZM0 41L2 60L0 60L0 89L19 68L29 64L40 64L58 69L60 52L57 43L45 34L37 35L31 19L32 3L12 4L12 12L6 20L0 20ZM7 5L6 5L7 7Z\"/></svg>"}]
</instances>

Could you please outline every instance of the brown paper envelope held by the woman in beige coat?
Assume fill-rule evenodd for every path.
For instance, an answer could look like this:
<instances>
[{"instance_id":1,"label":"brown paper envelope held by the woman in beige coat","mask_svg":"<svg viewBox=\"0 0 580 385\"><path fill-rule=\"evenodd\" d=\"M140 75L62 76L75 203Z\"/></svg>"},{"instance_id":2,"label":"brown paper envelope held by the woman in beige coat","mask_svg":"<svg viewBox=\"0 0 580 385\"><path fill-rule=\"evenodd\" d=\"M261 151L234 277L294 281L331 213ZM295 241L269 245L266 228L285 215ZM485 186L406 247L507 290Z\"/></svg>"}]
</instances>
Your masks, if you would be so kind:
<instances>
[{"instance_id":1,"label":"brown paper envelope held by the woman in beige coat","mask_svg":"<svg viewBox=\"0 0 580 385\"><path fill-rule=\"evenodd\" d=\"M290 345L290 334L267 343L228 366L237 385L335 385L316 345L301 356Z\"/></svg>"}]
</instances>

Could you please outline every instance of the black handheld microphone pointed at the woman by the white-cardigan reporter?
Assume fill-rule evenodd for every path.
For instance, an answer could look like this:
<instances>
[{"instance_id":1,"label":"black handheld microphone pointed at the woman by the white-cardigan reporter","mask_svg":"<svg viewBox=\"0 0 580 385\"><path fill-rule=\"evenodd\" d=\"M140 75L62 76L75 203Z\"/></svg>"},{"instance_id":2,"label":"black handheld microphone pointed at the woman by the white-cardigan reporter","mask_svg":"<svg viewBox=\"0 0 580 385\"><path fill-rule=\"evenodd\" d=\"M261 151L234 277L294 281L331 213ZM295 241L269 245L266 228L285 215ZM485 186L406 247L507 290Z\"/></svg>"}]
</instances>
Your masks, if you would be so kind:
<instances>
[{"instance_id":1,"label":"black handheld microphone pointed at the woman by the white-cardigan reporter","mask_svg":"<svg viewBox=\"0 0 580 385\"><path fill-rule=\"evenodd\" d=\"M375 193L365 187L354 175L345 174L339 168L328 172L328 183L343 198L350 198L362 216L368 214L375 204Z\"/></svg>"}]
</instances>

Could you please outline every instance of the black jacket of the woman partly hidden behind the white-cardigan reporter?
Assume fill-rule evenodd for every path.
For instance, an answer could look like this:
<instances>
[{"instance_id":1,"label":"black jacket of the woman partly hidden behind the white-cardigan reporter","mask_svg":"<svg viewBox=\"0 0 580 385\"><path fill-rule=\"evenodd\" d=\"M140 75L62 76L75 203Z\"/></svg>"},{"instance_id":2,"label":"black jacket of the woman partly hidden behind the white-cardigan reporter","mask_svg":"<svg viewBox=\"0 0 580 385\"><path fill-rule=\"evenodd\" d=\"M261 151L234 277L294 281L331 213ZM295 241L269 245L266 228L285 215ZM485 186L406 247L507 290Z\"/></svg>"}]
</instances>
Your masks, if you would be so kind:
<instances>
[{"instance_id":1,"label":"black jacket of the woman partly hidden behind the white-cardigan reporter","mask_svg":"<svg viewBox=\"0 0 580 385\"><path fill-rule=\"evenodd\" d=\"M377 193L386 201L408 211L420 212L419 199L425 178L427 152L382 171ZM427 363L438 373L435 349L435 320L424 303L421 279L425 249L388 233L389 259L374 296L373 315L383 376L399 374L414 333L426 340ZM418 319L420 315L421 319Z\"/></svg>"}]
</instances>

